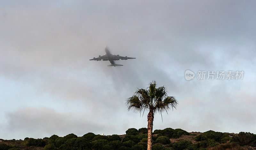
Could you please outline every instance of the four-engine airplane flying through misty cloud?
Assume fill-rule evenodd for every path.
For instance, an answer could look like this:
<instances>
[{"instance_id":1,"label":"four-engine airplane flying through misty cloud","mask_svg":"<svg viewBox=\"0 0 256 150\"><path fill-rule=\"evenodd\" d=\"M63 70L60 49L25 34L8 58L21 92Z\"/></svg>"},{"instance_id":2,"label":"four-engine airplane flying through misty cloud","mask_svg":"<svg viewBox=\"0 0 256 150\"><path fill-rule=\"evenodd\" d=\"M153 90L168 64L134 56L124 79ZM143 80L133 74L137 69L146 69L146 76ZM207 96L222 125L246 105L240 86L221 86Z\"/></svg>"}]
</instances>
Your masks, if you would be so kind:
<instances>
[{"instance_id":1,"label":"four-engine airplane flying through misty cloud","mask_svg":"<svg viewBox=\"0 0 256 150\"><path fill-rule=\"evenodd\" d=\"M136 58L132 58L132 57L127 57L127 56L123 57L123 56L111 54L111 53L110 53L110 50L109 50L109 48L108 48L108 46L105 46L105 52L106 52L105 55L103 55L103 56L100 56L100 55L99 55L99 57L97 57L97 58L93 57L93 59L89 59L89 60L97 60L97 61L100 61L100 60L102 59L103 61L109 61L109 62L111 63L111 64L108 65L108 66L114 66L114 67L116 67L116 66L123 66L123 65L122 65L122 64L116 64L116 63L115 63L115 60L120 60L120 59L121 59L121 60L136 59Z\"/></svg>"}]
</instances>

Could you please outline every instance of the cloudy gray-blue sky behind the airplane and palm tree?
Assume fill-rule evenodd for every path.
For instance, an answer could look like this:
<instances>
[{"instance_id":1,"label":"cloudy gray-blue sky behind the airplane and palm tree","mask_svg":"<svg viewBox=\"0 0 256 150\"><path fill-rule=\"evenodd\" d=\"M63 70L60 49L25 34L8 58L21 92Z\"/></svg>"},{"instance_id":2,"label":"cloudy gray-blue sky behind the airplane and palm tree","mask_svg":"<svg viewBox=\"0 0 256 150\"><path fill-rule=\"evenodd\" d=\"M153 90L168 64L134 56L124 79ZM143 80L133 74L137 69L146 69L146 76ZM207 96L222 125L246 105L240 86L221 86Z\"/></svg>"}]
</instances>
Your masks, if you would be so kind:
<instances>
[{"instance_id":1,"label":"cloudy gray-blue sky behind the airplane and palm tree","mask_svg":"<svg viewBox=\"0 0 256 150\"><path fill-rule=\"evenodd\" d=\"M163 122L155 115L153 130L256 133L255 8L255 1L0 1L0 138L147 127L147 114L127 111L125 100L152 80L179 101ZM120 67L89 61L106 45L136 59ZM207 80L208 71L244 74Z\"/></svg>"}]
</instances>

